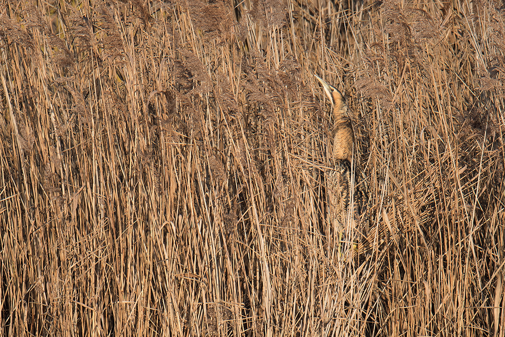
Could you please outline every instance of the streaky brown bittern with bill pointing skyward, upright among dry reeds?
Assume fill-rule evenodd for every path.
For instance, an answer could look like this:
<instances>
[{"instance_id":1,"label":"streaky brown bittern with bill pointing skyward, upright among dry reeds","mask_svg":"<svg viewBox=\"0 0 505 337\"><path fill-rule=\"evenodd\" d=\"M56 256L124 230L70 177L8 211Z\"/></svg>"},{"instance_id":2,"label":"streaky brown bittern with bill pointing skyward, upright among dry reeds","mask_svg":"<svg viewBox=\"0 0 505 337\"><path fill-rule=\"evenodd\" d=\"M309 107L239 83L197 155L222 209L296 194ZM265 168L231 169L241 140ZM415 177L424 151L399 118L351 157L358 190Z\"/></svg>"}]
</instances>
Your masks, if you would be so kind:
<instances>
[{"instance_id":1,"label":"streaky brown bittern with bill pointing skyward, upright among dry reeds","mask_svg":"<svg viewBox=\"0 0 505 337\"><path fill-rule=\"evenodd\" d=\"M333 150L330 163L333 168L325 172L328 216L334 230L338 233L338 240L345 229L347 214L349 213L351 191L350 164L352 161L352 147L354 132L351 127L349 108L345 100L334 86L328 84L316 75L321 82L324 92L331 104L333 117ZM354 217L354 211L350 210Z\"/></svg>"}]
</instances>

